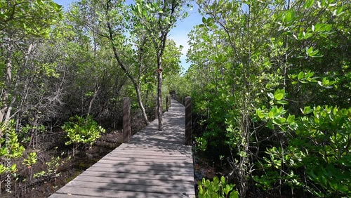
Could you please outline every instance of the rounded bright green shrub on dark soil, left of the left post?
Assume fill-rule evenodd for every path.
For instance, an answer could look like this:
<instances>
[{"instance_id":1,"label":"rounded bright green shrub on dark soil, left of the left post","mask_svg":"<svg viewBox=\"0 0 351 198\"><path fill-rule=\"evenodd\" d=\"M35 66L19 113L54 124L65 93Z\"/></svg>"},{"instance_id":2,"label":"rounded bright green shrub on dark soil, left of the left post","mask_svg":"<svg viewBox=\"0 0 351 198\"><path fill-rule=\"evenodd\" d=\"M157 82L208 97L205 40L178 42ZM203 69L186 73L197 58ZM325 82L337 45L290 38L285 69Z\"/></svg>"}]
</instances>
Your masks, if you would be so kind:
<instances>
[{"instance_id":1,"label":"rounded bright green shrub on dark soil, left of the left post","mask_svg":"<svg viewBox=\"0 0 351 198\"><path fill-rule=\"evenodd\" d=\"M100 133L105 133L105 129L98 125L91 116L86 118L76 115L69 118L69 121L62 126L67 133L69 140L65 143L75 144L75 149L81 144L93 145L95 140L100 138ZM74 152L73 152L74 155Z\"/></svg>"}]
</instances>

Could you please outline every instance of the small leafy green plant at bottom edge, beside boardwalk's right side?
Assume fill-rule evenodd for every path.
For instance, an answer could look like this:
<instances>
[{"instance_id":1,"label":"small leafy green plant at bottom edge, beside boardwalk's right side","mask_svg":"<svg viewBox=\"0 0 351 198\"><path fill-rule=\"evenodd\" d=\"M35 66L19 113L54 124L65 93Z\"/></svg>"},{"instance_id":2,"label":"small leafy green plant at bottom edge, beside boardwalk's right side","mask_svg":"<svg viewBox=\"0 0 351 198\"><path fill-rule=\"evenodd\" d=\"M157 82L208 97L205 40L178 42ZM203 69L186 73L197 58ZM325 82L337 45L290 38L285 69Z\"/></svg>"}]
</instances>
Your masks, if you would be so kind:
<instances>
[{"instance_id":1,"label":"small leafy green plant at bottom edge, beside boardwalk's right side","mask_svg":"<svg viewBox=\"0 0 351 198\"><path fill-rule=\"evenodd\" d=\"M239 192L233 188L234 185L228 184L223 176L220 180L215 177L213 181L202 178L199 181L199 198L239 198Z\"/></svg>"}]
</instances>

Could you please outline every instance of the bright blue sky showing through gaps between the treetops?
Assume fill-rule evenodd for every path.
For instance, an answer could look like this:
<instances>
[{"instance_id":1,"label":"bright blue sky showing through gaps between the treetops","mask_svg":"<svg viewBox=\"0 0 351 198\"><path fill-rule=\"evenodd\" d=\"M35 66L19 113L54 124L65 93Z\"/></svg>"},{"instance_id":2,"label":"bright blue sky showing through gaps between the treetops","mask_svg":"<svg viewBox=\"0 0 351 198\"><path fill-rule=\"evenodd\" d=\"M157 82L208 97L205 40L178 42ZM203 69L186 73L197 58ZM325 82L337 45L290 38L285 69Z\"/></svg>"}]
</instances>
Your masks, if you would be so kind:
<instances>
[{"instance_id":1,"label":"bright blue sky showing through gaps between the treetops","mask_svg":"<svg viewBox=\"0 0 351 198\"><path fill-rule=\"evenodd\" d=\"M63 6L63 9L66 10L69 4L72 3L72 0L54 0L57 4ZM131 2L132 0L127 0L127 3ZM192 1L194 2L194 1ZM183 55L181 56L180 60L182 61L182 66L184 67L185 71L190 66L190 63L186 62L186 53L187 49L189 48L187 44L187 34L192 30L194 25L201 24L202 16L197 12L197 5L194 5L192 11L186 8L189 17L185 18L184 20L179 20L175 28L173 28L169 34L169 38L176 41L176 44L183 46Z\"/></svg>"}]
</instances>

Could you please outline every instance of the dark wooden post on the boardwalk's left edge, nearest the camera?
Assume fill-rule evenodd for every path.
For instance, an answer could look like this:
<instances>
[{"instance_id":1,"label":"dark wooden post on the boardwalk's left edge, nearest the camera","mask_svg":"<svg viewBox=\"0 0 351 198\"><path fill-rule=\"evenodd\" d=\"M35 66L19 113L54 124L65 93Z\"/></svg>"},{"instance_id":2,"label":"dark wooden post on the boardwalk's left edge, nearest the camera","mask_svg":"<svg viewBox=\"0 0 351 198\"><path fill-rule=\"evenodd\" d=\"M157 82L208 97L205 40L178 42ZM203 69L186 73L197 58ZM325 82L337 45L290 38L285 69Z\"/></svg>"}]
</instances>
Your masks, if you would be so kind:
<instances>
[{"instance_id":1,"label":"dark wooden post on the boardwalk's left edge, nearest the camera","mask_svg":"<svg viewBox=\"0 0 351 198\"><path fill-rule=\"evenodd\" d=\"M123 143L131 141L131 100L123 98Z\"/></svg>"}]
</instances>

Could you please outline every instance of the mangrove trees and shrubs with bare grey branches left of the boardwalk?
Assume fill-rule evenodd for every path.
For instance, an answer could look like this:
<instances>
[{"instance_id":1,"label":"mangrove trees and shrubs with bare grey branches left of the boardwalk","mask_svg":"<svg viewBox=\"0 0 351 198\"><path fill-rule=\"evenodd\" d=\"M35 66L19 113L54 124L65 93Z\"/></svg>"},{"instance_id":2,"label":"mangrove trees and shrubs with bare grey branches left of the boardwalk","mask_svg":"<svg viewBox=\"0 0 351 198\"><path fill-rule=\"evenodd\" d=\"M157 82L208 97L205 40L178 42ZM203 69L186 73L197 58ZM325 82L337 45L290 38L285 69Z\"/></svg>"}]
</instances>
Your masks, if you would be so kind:
<instances>
[{"instance_id":1,"label":"mangrove trees and shrubs with bare grey branches left of the boardwalk","mask_svg":"<svg viewBox=\"0 0 351 198\"><path fill-rule=\"evenodd\" d=\"M181 47L167 36L184 7L83 0L64 12L52 0L0 0L1 193L44 197L28 192L120 129L124 97L137 121L153 119L181 71Z\"/></svg>"}]
</instances>

